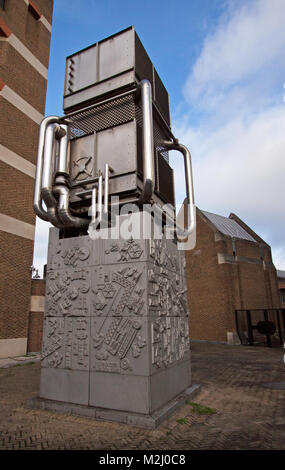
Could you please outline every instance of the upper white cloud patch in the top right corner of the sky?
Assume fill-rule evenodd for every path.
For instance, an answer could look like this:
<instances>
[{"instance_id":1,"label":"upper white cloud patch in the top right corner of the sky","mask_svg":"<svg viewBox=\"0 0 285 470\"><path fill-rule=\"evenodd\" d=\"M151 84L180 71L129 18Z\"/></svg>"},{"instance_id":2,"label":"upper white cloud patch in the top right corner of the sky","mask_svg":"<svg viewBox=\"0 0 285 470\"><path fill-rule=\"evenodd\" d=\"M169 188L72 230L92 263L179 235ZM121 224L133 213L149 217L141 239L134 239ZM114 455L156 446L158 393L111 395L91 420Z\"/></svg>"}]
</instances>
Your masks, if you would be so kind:
<instances>
[{"instance_id":1,"label":"upper white cloud patch in the top right corner of the sky","mask_svg":"<svg viewBox=\"0 0 285 470\"><path fill-rule=\"evenodd\" d=\"M238 3L237 3L238 5ZM284 0L256 0L221 19L216 31L206 37L200 56L187 80L186 95L191 100L217 95L217 91L239 85L284 60ZM284 68L284 66L283 66ZM238 88L237 88L238 90Z\"/></svg>"}]
</instances>

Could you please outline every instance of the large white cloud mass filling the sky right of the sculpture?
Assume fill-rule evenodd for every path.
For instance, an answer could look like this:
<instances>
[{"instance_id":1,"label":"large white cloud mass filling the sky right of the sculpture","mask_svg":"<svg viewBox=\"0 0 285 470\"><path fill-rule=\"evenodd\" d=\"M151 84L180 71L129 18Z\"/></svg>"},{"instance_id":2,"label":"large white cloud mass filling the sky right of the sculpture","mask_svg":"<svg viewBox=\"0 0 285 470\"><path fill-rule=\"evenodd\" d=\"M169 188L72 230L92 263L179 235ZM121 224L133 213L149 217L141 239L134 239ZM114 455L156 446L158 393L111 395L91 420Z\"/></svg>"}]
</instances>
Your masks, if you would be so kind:
<instances>
[{"instance_id":1,"label":"large white cloud mass filling the sky right of the sculpture","mask_svg":"<svg viewBox=\"0 0 285 470\"><path fill-rule=\"evenodd\" d=\"M237 213L271 244L280 269L285 269L284 14L283 0L237 3L229 10L205 38L185 85L191 107L175 123L193 155L197 205L226 216ZM181 173L179 168L180 178Z\"/></svg>"}]
</instances>

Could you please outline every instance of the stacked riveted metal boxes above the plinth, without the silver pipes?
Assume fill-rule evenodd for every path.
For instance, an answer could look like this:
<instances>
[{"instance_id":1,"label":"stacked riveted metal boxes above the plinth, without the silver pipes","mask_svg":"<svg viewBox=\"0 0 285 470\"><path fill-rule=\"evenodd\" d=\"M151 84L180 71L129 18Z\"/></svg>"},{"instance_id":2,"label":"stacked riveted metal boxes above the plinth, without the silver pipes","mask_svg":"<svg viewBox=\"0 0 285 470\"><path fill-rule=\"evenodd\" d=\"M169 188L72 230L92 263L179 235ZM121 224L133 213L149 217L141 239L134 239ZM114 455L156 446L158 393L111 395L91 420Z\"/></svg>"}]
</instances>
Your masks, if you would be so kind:
<instances>
[{"instance_id":1,"label":"stacked riveted metal boxes above the plinth, without the silver pipes","mask_svg":"<svg viewBox=\"0 0 285 470\"><path fill-rule=\"evenodd\" d=\"M143 80L152 94L153 196L158 203L174 205L173 171L164 145L171 132L168 93L130 27L66 60L64 111L71 132L71 203L76 207L79 201L90 204L89 190L106 163L113 169L110 195L123 201L141 194L144 125L137 90ZM77 196L80 183L85 195Z\"/></svg>"}]
</instances>

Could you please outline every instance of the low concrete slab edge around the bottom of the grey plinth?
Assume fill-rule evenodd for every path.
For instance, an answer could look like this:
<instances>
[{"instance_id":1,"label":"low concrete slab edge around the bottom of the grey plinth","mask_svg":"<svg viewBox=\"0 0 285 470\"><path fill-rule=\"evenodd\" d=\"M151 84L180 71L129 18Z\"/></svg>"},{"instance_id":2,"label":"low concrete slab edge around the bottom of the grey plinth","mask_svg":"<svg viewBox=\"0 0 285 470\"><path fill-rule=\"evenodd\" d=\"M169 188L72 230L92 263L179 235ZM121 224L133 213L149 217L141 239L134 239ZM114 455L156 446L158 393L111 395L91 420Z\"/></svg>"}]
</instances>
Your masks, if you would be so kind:
<instances>
[{"instance_id":1,"label":"low concrete slab edge around the bottom of the grey plinth","mask_svg":"<svg viewBox=\"0 0 285 470\"><path fill-rule=\"evenodd\" d=\"M200 384L194 384L187 388L182 394L178 395L166 405L156 410L151 415L140 413L130 413L127 411L108 410L105 408L97 408L94 406L77 405L61 401L47 400L45 398L32 398L28 400L27 405L30 408L57 411L59 413L80 415L88 418L117 421L119 423L130 424L142 428L154 429L159 426L162 421L168 418L178 407L182 406L187 400L193 399L201 391Z\"/></svg>"}]
</instances>

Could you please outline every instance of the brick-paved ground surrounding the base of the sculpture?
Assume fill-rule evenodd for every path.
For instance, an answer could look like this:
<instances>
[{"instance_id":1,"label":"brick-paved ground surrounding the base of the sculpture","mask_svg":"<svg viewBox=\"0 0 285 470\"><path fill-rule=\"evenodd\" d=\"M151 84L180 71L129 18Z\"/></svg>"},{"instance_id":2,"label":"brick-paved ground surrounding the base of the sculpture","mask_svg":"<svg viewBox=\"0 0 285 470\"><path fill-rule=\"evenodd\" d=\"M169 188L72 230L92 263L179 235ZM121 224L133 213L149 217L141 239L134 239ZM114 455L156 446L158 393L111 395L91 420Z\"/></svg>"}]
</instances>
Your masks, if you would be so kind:
<instances>
[{"instance_id":1,"label":"brick-paved ground surrounding the base of the sculpture","mask_svg":"<svg viewBox=\"0 0 285 470\"><path fill-rule=\"evenodd\" d=\"M0 449L284 449L283 355L281 348L192 344L193 381L203 386L195 402L216 413L184 405L156 430L28 409L40 364L1 368Z\"/></svg>"}]
</instances>

